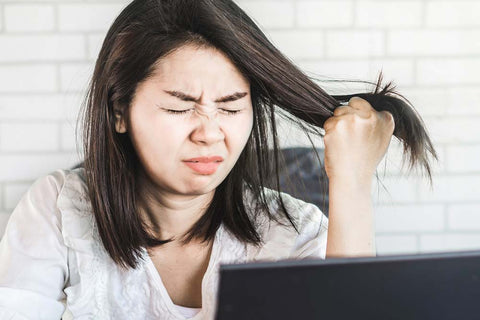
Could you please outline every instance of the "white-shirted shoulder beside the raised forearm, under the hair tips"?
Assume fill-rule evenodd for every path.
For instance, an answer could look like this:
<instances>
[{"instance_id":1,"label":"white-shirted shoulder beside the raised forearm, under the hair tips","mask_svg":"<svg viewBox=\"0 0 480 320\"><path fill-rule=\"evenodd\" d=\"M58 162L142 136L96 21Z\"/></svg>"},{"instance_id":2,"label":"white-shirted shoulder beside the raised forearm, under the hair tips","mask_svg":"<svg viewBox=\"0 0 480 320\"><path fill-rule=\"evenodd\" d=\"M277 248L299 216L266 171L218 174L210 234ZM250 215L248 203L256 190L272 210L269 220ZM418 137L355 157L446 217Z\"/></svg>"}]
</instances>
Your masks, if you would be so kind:
<instances>
[{"instance_id":1,"label":"white-shirted shoulder beside the raised forearm, under the hair tips","mask_svg":"<svg viewBox=\"0 0 480 320\"><path fill-rule=\"evenodd\" d=\"M259 225L264 241L259 248L250 251L250 260L280 260L325 258L328 218L314 204L280 193L297 231L288 219L281 215L280 203L276 200L276 191L265 188L270 212L279 221L264 218ZM264 215L266 216L266 215Z\"/></svg>"}]
</instances>

